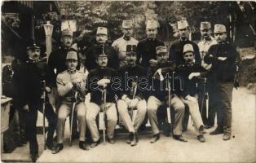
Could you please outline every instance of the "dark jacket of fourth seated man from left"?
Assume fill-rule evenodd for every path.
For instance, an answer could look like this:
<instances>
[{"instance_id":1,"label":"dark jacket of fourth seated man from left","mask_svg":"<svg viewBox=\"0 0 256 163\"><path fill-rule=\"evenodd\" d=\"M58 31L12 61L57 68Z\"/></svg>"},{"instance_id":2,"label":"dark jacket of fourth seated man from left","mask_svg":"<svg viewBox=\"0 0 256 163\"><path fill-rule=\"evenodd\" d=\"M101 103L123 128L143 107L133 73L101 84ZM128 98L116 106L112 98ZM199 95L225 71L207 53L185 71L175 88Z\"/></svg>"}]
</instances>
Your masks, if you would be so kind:
<instances>
[{"instance_id":1,"label":"dark jacket of fourth seated man from left","mask_svg":"<svg viewBox=\"0 0 256 163\"><path fill-rule=\"evenodd\" d=\"M163 81L160 80L160 76L157 72L157 69L161 68L161 74L165 79ZM168 85L167 81L170 81L171 86L171 94L174 94L174 90L172 88L172 73L176 71L176 64L173 61L167 61L166 64L157 64L156 67L149 68L148 78L151 83L151 89L149 91L149 95L154 95L157 99L164 101L166 97L168 97ZM154 75L156 73L156 75ZM169 78L167 78L167 73L169 74ZM176 86L176 84L174 84Z\"/></svg>"}]
</instances>

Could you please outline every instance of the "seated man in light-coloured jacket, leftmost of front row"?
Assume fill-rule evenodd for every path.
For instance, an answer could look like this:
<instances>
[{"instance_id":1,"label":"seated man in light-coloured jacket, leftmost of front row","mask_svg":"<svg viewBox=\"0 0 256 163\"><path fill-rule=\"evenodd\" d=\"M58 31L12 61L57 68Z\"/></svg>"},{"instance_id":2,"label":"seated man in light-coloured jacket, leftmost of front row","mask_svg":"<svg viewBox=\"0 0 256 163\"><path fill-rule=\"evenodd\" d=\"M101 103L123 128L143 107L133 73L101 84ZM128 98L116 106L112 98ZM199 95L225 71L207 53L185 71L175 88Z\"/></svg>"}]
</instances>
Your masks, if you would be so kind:
<instances>
[{"instance_id":1,"label":"seated man in light-coloured jacket, leftmost of front row","mask_svg":"<svg viewBox=\"0 0 256 163\"><path fill-rule=\"evenodd\" d=\"M88 150L85 143L86 134L86 105L84 104L86 95L86 76L85 73L78 71L77 51L68 51L66 57L67 70L59 73L57 76L57 90L61 97L60 109L57 122L57 145L53 154L60 152L63 147L65 120L69 114L72 114L73 103L76 103L78 130L79 130L79 148ZM77 99L75 94L77 92Z\"/></svg>"}]
</instances>

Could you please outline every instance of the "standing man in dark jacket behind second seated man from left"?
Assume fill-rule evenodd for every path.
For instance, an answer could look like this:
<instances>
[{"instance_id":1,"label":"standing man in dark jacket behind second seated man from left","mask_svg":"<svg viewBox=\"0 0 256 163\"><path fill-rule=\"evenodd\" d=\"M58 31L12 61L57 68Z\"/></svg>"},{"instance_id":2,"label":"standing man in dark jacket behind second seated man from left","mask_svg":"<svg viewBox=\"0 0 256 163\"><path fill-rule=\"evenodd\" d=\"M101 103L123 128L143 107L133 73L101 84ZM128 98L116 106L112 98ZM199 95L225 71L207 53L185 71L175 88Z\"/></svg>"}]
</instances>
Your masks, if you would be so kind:
<instances>
[{"instance_id":1,"label":"standing man in dark jacket behind second seated man from left","mask_svg":"<svg viewBox=\"0 0 256 163\"><path fill-rule=\"evenodd\" d=\"M94 45L90 46L86 51L86 68L88 71L94 68L98 68L96 63L97 54L106 53L108 55L108 67L117 69L119 67L119 59L117 52L112 46L107 43L108 40L108 29L104 27L98 27L96 33L96 42Z\"/></svg>"}]
</instances>

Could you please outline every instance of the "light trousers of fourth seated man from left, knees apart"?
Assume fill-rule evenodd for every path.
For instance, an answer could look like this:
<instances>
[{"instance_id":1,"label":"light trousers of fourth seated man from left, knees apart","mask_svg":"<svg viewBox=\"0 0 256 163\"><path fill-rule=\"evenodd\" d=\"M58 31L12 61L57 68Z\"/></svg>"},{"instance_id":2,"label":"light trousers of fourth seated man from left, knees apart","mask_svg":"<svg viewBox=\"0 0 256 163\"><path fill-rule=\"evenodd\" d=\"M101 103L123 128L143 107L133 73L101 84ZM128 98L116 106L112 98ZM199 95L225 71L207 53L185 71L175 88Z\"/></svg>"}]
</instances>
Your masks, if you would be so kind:
<instances>
[{"instance_id":1,"label":"light trousers of fourth seated man from left, knees apart","mask_svg":"<svg viewBox=\"0 0 256 163\"><path fill-rule=\"evenodd\" d=\"M166 104L168 104L168 102ZM161 105L162 105L162 102L159 99L157 99L155 96L152 95L148 98L148 119L152 127L153 134L159 133L158 121L157 121L157 108L159 108ZM170 99L170 106L174 108L174 111L175 111L175 122L174 122L173 133L174 135L181 135L185 105L177 95L174 95L174 97Z\"/></svg>"}]
</instances>

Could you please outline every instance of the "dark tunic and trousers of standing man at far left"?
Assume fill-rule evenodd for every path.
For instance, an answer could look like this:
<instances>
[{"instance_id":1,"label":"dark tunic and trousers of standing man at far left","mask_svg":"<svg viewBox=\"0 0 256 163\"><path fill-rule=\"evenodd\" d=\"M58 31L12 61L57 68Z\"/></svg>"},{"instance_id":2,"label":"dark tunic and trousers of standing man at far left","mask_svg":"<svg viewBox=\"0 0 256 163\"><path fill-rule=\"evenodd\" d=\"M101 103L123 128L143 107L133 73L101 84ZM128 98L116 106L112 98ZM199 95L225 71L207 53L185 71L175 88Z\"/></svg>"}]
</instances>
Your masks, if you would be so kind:
<instances>
[{"instance_id":1,"label":"dark tunic and trousers of standing man at far left","mask_svg":"<svg viewBox=\"0 0 256 163\"><path fill-rule=\"evenodd\" d=\"M42 112L42 81L47 79L46 64L29 59L26 63L20 65L14 78L16 81L19 81L18 92L20 105L29 105L29 112L26 114L26 133L29 139L30 153L38 154L37 120L38 110ZM45 116L49 121L46 142L52 143L57 117L51 104L47 102Z\"/></svg>"}]
</instances>

